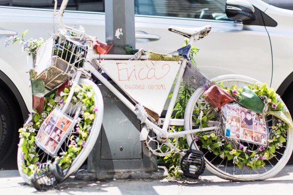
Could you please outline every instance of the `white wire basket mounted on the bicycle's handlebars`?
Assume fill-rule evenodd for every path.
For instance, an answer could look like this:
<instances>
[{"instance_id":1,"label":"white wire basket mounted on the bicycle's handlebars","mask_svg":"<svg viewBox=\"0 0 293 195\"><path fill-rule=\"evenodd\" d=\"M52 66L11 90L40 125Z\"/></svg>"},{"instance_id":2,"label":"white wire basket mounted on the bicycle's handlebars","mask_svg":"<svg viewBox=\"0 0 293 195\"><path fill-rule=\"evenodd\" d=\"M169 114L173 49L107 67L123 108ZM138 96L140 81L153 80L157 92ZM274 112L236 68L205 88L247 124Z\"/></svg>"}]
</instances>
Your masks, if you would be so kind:
<instances>
[{"instance_id":1,"label":"white wire basket mounted on the bicycle's handlebars","mask_svg":"<svg viewBox=\"0 0 293 195\"><path fill-rule=\"evenodd\" d=\"M87 53L84 41L56 33L37 51L37 80L44 80L45 88L52 90L76 74L84 64ZM48 57L50 56L50 58Z\"/></svg>"}]
</instances>

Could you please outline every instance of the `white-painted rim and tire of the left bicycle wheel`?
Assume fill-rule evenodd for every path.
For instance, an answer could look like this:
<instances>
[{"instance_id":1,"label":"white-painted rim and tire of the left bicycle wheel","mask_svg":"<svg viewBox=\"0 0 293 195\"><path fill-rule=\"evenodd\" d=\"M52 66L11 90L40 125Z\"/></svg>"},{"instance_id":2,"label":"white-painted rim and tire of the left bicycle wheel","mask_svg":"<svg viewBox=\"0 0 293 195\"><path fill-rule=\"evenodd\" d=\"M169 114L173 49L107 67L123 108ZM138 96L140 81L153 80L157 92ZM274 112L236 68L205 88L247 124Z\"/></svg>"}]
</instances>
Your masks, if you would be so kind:
<instances>
[{"instance_id":1,"label":"white-painted rim and tire of the left bicycle wheel","mask_svg":"<svg viewBox=\"0 0 293 195\"><path fill-rule=\"evenodd\" d=\"M103 105L103 97L102 97L100 89L93 82L91 82L87 79L80 79L78 85L79 86L82 86L82 85L92 86L91 90L94 92L93 98L94 98L95 108L97 108L97 110L95 110L96 117L93 119L91 126L88 127L89 133L88 133L86 140L83 143L84 147L82 147L82 149L78 153L78 155L72 159L70 166L65 167L65 168L63 167L63 173L64 173L63 180L65 180L72 173L76 172L80 168L80 166L84 163L84 160L87 158L89 153L92 151L92 148L94 147L94 144L98 138L98 135L101 130L102 120L103 120L104 105ZM56 100L56 98L55 98L55 100ZM60 98L59 98L59 100L60 100ZM69 100L66 100L66 101L69 101ZM83 121L84 118L82 118L82 117L84 117L84 115L83 115L84 111L82 111L82 109L81 109L80 112L77 112L77 110L78 110L78 108L84 107L84 103L81 101L77 102L76 100L74 100L74 98L72 98L70 101L71 102L75 101L75 103L70 104L68 106L68 108L66 109L65 113L71 117L74 117L74 115L78 114L79 117L81 117L81 121ZM62 106L60 108L62 108ZM45 120L46 119L44 119L44 121ZM28 119L26 123L29 123L30 121L31 120ZM76 144L76 143L72 142L72 140L76 140L76 138L79 137L80 132L78 132L76 127L71 128L71 130L69 130L69 131L70 132L65 136L65 139L64 139L64 142L63 142L61 148L57 152L57 157L59 157L59 158L62 158L62 155L64 154L64 152L68 151L70 144L73 144L73 145ZM36 130L35 132L37 134L38 130ZM24 141L24 139L21 138L20 144L19 144L19 149L18 149L18 169L19 169L21 177L24 179L24 181L26 183L30 184L31 183L30 176L26 173L23 173L24 167L27 166L24 164L25 161L23 159L23 151L21 149L21 145L22 145L23 141ZM37 145L34 145L34 146L36 147L35 151L37 152L37 155L39 157L39 161L38 161L39 163L45 163L48 161L53 162L56 159L56 156L52 157L48 153L44 152Z\"/></svg>"}]
</instances>

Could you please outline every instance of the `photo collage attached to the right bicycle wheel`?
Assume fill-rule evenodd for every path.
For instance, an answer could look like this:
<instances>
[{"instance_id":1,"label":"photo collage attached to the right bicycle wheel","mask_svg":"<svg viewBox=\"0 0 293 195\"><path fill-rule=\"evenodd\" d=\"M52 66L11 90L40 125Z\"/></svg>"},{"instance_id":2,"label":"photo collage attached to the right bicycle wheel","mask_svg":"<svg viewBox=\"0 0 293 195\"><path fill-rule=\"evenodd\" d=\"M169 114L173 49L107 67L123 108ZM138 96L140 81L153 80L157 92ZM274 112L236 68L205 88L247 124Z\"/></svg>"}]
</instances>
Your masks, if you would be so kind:
<instances>
[{"instance_id":1,"label":"photo collage attached to the right bicycle wheel","mask_svg":"<svg viewBox=\"0 0 293 195\"><path fill-rule=\"evenodd\" d=\"M267 145L268 128L262 114L227 104L225 136L258 145Z\"/></svg>"}]
</instances>

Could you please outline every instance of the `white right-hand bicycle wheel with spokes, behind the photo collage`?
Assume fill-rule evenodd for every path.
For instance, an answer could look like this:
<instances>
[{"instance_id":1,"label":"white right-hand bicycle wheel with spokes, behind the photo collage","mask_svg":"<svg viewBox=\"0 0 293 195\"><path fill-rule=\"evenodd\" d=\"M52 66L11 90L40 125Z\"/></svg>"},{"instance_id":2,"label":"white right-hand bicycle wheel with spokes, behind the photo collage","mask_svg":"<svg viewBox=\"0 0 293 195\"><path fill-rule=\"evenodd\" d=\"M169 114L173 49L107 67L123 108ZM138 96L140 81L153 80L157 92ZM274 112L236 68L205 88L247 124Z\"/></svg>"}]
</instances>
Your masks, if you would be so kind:
<instances>
[{"instance_id":1,"label":"white right-hand bicycle wheel with spokes, behind the photo collage","mask_svg":"<svg viewBox=\"0 0 293 195\"><path fill-rule=\"evenodd\" d=\"M261 84L254 79L240 75L224 75L216 77L211 81L216 82L217 84L223 82L225 87L236 85L237 88L242 88L243 86L253 85L256 83ZM203 109L200 107L203 107L202 102L204 101L204 92L204 87L201 87L197 89L190 98L185 112L185 130L199 128L199 124L196 124L196 120L199 118L198 110ZM283 105L284 108L286 108L284 103ZM219 125L221 123L221 117L218 115L219 112L215 110L217 109L214 109L213 119L211 121L207 121L206 124L208 126L218 126L217 129L222 128L222 132L225 132L225 127L223 125ZM270 126L270 136L268 137L272 140L277 140L278 138L276 138L274 134L276 131L272 130L272 127L274 128L274 125L277 126L278 121L280 120L272 115L265 115L264 118L267 127ZM241 139L227 138L225 137L225 134L219 133L218 131L216 132L216 130L201 132L198 134L189 134L186 136L186 138L189 145L193 139L198 140L194 142L193 147L204 152L206 169L210 173L227 180L251 181L271 178L275 174L279 173L288 162L293 150L292 129L287 128L286 130L279 133L278 136L282 136L282 144L278 145L280 147L274 147L270 144L264 147ZM200 137L204 137L204 139L201 140ZM207 140L209 139L210 145L207 144ZM212 140L218 140L218 142L214 143ZM219 145L215 146L211 143ZM219 150L217 149L216 151L213 149L213 147L218 147ZM262 156L256 155L264 149L266 149L268 152L264 153ZM231 155L227 153L229 150ZM243 158L240 158L240 155L237 156L237 154L242 153L242 151L245 155L243 155ZM266 155L270 157L265 159ZM262 161L263 158L265 160ZM245 163L239 163L239 160Z\"/></svg>"}]
</instances>

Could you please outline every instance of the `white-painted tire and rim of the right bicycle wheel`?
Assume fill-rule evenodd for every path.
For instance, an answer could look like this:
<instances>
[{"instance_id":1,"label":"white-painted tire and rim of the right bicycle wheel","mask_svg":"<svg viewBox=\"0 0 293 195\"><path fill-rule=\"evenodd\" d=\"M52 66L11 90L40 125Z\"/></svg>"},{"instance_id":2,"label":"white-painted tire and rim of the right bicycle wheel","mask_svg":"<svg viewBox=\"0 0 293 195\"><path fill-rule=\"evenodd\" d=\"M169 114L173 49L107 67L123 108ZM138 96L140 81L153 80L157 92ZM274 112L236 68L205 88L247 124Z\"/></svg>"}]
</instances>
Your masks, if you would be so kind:
<instances>
[{"instance_id":1,"label":"white-painted tire and rim of the right bicycle wheel","mask_svg":"<svg viewBox=\"0 0 293 195\"><path fill-rule=\"evenodd\" d=\"M261 83L261 82L258 82L257 80L254 80L245 76L240 76L240 75L219 76L219 77L211 79L211 81L214 81L216 83L223 82L225 87L229 87L229 85L234 85L234 84L237 84L238 87L242 87L242 85ZM185 112L185 130L192 129L193 110L194 108L196 108L196 103L199 100L199 98L203 95L204 91L205 91L204 87L197 89L188 102L186 112ZM189 134L186 136L186 138L187 138L188 144L190 145L191 141L194 139L194 135ZM209 150L207 149L203 149L203 147L201 147L200 142L198 141L195 142L194 147L197 150L202 150L204 152L206 169L210 173L218 177L221 177L227 180L232 180L232 181L265 180L279 173L284 168L284 166L286 165L286 163L288 162L291 156L291 153L293 150L293 141L292 141L293 132L291 128L287 130L287 137L285 138L286 138L285 149L284 147L278 149L278 151L276 149L275 153L277 154L277 156L272 158L272 161L275 160L276 163L274 162L271 163L271 159L270 159L268 160L269 163L266 163L266 164L269 164L268 166L260 167L258 170L253 170L253 169L246 170L246 168L243 168L242 170L240 170L234 163L232 164L230 163L231 166L228 166L229 165L228 160L226 159L226 162L225 162L224 161L225 158L222 161L217 161L216 159L219 157L219 155L216 155L213 152L209 152Z\"/></svg>"}]
</instances>

